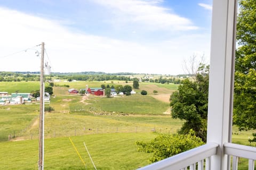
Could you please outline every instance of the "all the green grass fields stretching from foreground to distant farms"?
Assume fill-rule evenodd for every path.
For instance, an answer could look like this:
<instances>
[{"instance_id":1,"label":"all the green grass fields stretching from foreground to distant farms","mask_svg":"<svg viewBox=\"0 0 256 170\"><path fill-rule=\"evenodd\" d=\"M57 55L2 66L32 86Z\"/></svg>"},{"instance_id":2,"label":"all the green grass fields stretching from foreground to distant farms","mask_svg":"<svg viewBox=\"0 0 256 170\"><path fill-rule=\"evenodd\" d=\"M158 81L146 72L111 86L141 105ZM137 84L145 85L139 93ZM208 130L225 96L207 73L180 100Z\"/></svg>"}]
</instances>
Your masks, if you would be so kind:
<instances>
[{"instance_id":1,"label":"all the green grass fields stretching from foreground to distant farms","mask_svg":"<svg viewBox=\"0 0 256 170\"><path fill-rule=\"evenodd\" d=\"M114 84L130 84L113 81ZM58 82L53 88L45 114L45 169L94 169L86 153L86 143L97 169L137 169L149 164L150 154L138 152L135 141L149 141L158 133L176 133L182 121L171 118L169 97L175 84L140 83L148 95L135 94L116 98L70 95L68 89L100 87L106 82ZM62 87L67 84L70 87ZM0 82L0 91L30 92L39 82ZM158 94L153 94L157 90ZM49 105L49 104L46 104ZM39 105L0 106L0 169L37 169ZM233 129L233 142L250 145L253 131ZM7 141L9 135L13 137ZM76 150L69 141L73 140ZM239 159L246 169L247 160Z\"/></svg>"}]
</instances>

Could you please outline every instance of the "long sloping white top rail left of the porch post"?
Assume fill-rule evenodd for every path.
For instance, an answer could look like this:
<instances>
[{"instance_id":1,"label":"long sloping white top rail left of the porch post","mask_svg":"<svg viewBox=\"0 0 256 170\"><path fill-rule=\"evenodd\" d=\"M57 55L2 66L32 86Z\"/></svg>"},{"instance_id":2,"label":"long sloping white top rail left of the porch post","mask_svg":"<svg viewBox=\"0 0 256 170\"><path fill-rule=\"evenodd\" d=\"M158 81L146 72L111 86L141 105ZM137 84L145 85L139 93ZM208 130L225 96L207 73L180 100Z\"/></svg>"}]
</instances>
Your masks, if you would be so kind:
<instances>
[{"instance_id":1,"label":"long sloping white top rail left of the porch post","mask_svg":"<svg viewBox=\"0 0 256 170\"><path fill-rule=\"evenodd\" d=\"M207 143L178 155L174 155L170 158L139 168L138 170L182 169L191 164L197 163L204 158L215 155L217 153L218 146L219 145L217 143Z\"/></svg>"}]
</instances>

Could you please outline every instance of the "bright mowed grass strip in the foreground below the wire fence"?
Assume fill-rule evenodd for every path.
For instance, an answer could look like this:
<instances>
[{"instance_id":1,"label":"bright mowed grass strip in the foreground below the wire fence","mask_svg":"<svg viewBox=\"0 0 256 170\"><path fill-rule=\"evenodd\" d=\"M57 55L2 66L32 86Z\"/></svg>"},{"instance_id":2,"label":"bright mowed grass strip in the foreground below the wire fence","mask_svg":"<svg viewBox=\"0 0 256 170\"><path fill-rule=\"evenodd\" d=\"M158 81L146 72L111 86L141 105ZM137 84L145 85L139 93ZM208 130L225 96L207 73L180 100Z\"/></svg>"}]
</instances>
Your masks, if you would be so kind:
<instances>
[{"instance_id":1,"label":"bright mowed grass strip in the foreground below the wire fence","mask_svg":"<svg viewBox=\"0 0 256 170\"><path fill-rule=\"evenodd\" d=\"M138 152L135 141L149 141L156 133L109 133L71 137L85 162L84 167L68 137L45 140L45 169L137 169L149 164L151 154ZM0 169L37 169L38 141L0 143Z\"/></svg>"}]
</instances>

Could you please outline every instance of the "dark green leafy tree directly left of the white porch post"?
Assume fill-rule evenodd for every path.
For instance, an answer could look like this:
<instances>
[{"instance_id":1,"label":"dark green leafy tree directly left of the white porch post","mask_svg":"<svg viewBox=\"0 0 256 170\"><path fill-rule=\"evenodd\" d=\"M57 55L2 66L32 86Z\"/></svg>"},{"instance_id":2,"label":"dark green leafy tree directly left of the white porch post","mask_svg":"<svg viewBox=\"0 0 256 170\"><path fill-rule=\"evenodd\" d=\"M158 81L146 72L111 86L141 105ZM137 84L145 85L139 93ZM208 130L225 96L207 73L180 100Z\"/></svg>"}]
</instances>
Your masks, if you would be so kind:
<instances>
[{"instance_id":1,"label":"dark green leafy tree directly left of the white porch post","mask_svg":"<svg viewBox=\"0 0 256 170\"><path fill-rule=\"evenodd\" d=\"M195 81L186 79L173 92L170 105L172 117L185 120L179 133L187 134L193 129L197 137L206 141L209 66L201 65L199 70Z\"/></svg>"}]
</instances>

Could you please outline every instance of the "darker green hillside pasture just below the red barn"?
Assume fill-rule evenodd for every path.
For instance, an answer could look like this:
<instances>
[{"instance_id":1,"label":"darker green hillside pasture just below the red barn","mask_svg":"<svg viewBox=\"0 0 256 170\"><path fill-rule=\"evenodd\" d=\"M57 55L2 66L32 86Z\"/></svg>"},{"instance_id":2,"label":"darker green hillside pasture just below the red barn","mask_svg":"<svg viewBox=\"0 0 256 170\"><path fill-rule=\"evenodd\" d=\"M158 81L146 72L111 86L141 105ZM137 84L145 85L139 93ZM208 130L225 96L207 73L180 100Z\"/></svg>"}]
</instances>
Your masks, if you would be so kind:
<instances>
[{"instance_id":1,"label":"darker green hillside pasture just below the red barn","mask_svg":"<svg viewBox=\"0 0 256 170\"><path fill-rule=\"evenodd\" d=\"M169 104L151 96L135 94L114 98L89 96L87 104L71 101L70 112L162 115Z\"/></svg>"}]
</instances>

